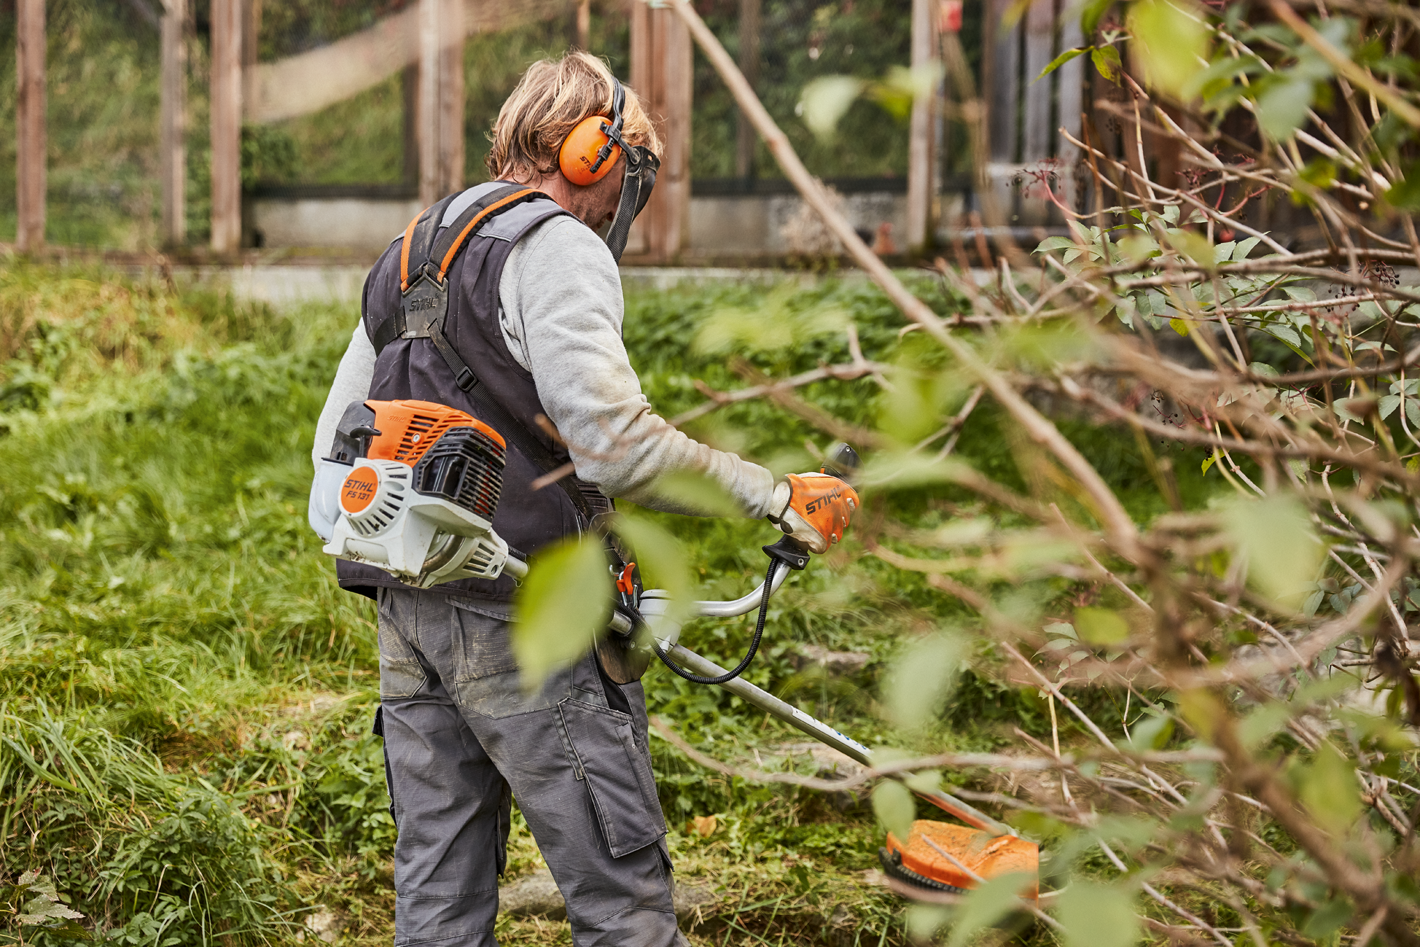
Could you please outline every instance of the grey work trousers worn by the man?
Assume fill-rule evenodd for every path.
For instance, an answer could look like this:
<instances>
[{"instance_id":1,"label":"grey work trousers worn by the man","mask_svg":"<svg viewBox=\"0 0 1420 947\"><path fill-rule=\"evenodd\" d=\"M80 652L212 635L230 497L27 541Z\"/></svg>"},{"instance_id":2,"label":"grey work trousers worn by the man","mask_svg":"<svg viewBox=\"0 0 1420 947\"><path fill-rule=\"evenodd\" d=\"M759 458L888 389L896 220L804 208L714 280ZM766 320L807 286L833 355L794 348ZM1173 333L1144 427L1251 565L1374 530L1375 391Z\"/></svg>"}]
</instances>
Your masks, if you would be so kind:
<instances>
[{"instance_id":1,"label":"grey work trousers worn by the man","mask_svg":"<svg viewBox=\"0 0 1420 947\"><path fill-rule=\"evenodd\" d=\"M586 655L524 696L508 622L379 593L378 731L399 829L395 944L491 947L515 797L578 947L684 943L640 684Z\"/></svg>"}]
</instances>

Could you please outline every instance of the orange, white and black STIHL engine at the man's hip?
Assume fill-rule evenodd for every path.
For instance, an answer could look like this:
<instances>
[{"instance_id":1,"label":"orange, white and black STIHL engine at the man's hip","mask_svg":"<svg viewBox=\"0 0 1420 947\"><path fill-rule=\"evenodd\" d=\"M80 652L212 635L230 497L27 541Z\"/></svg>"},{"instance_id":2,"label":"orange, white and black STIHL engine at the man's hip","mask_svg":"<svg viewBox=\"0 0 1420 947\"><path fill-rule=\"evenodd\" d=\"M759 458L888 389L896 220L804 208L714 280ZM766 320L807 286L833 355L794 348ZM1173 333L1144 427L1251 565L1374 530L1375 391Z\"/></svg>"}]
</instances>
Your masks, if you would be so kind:
<instances>
[{"instance_id":1,"label":"orange, white and black STIHL engine at the man's hip","mask_svg":"<svg viewBox=\"0 0 1420 947\"><path fill-rule=\"evenodd\" d=\"M462 410L430 402L352 402L311 487L325 552L426 589L527 566L493 531L507 444Z\"/></svg>"}]
</instances>

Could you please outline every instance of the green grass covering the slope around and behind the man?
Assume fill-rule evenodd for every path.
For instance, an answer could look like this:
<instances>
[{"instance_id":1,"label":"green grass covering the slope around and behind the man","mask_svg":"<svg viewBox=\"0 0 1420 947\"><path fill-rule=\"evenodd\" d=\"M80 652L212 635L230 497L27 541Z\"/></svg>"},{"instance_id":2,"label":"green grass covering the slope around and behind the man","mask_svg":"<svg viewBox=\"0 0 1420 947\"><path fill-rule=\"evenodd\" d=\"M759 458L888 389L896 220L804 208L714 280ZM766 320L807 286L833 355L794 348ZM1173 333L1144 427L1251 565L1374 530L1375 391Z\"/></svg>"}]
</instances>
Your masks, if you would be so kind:
<instances>
[{"instance_id":1,"label":"green grass covering the slope around and behind the man","mask_svg":"<svg viewBox=\"0 0 1420 947\"><path fill-rule=\"evenodd\" d=\"M936 284L919 290L939 310L957 305ZM746 331L746 311L767 318ZM701 400L693 378L740 383L723 352L697 344L706 325L740 332L736 349L778 375L846 359L843 318L869 358L932 368L913 336L899 341L900 317L855 281L768 297L737 285L635 292L626 341L669 416ZM354 319L344 307L278 312L92 268L0 270L0 880L51 875L106 941L288 943L317 904L341 914L346 943L390 937L393 825L369 735L373 612L337 589L305 525L311 432ZM755 334L782 325L795 327L790 346ZM896 410L870 381L807 395L855 423L890 423ZM949 410L958 398L947 393ZM761 403L690 427L781 470L814 463L805 439L828 442ZM1133 442L1069 430L1136 515L1166 508ZM1007 432L983 407L960 453L1028 488L1027 454ZM1208 484L1183 476L1197 464L1179 467L1186 498L1201 503ZM923 525L981 510L941 490L872 501ZM639 515L682 540L707 598L750 588L758 545L772 540L763 522ZM1012 591L1048 615L1078 589ZM896 733L878 716L876 679L903 642L954 623L974 619L849 541L775 598L747 676L865 743L980 750L1003 745L1012 726L1048 734L1035 691L1005 683L987 646L924 731ZM683 640L731 662L750 630L748 619L696 622ZM792 662L804 642L872 660L851 679L805 673ZM652 713L720 758L753 762L804 740L665 669L646 686ZM1118 720L1103 691L1081 697L1102 723ZM880 829L862 802L706 774L660 740L653 755L682 882L726 899L699 940L751 943L748 930L821 943L838 912L845 943L903 943L899 904L863 883ZM716 831L701 836L692 819L709 815ZM513 876L537 863L524 828ZM568 943L565 924L548 921L504 919L500 937Z\"/></svg>"}]
</instances>

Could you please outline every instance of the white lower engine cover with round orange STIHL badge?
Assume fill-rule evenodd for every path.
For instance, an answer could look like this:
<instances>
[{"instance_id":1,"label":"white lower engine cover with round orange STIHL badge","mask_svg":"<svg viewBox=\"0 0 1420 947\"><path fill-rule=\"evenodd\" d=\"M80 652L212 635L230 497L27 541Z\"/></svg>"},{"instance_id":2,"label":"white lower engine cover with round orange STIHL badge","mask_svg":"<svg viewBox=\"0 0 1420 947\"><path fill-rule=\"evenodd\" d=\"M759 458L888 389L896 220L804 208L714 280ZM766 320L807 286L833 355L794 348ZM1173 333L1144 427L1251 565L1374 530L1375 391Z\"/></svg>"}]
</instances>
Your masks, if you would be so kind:
<instances>
[{"instance_id":1,"label":"white lower engine cover with round orange STIHL badge","mask_svg":"<svg viewBox=\"0 0 1420 947\"><path fill-rule=\"evenodd\" d=\"M328 471L327 464L339 471ZM416 493L413 474L398 460L361 457L352 467L321 461L310 518L322 538L320 527L334 518L324 551L385 569L420 589L457 579L496 579L506 566L515 574L525 571L523 562L508 558L508 544L491 522L442 497Z\"/></svg>"}]
</instances>

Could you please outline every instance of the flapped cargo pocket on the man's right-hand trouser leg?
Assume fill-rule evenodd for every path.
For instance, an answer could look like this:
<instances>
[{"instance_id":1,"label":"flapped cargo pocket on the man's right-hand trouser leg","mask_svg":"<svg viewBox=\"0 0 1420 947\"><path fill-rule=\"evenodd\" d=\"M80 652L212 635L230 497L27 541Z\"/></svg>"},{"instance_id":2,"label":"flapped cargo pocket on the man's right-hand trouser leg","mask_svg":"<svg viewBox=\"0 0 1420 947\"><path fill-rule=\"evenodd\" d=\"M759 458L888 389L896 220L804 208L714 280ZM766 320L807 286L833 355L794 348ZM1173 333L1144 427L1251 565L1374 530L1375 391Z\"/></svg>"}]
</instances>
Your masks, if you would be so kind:
<instances>
[{"instance_id":1,"label":"flapped cargo pocket on the man's right-hand trouser leg","mask_svg":"<svg viewBox=\"0 0 1420 947\"><path fill-rule=\"evenodd\" d=\"M629 855L666 833L646 752L636 748L630 716L581 700L558 706L572 764L586 781L612 858Z\"/></svg>"}]
</instances>

